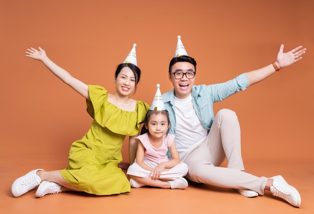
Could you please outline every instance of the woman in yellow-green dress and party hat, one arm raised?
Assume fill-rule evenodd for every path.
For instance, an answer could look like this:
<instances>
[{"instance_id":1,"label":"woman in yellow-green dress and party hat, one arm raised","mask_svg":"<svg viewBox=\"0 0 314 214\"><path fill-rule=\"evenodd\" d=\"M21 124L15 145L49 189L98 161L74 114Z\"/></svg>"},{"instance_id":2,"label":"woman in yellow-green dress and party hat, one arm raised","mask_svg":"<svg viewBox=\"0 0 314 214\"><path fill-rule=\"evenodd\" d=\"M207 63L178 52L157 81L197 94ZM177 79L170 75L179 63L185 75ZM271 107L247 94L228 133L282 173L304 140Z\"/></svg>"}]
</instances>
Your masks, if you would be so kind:
<instances>
[{"instance_id":1,"label":"woman in yellow-green dress and party hat, one arm raised","mask_svg":"<svg viewBox=\"0 0 314 214\"><path fill-rule=\"evenodd\" d=\"M130 183L118 163L122 161L122 144L129 137L132 163L136 153L135 137L149 105L129 96L140 79L135 44L115 72L115 92L108 94L103 87L86 85L51 61L39 47L27 49L26 56L41 61L54 75L86 98L87 111L93 123L81 140L75 141L69 152L69 166L63 170L34 169L16 179L12 193L18 197L38 186L35 195L62 191L84 191L96 195L127 194Z\"/></svg>"}]
</instances>

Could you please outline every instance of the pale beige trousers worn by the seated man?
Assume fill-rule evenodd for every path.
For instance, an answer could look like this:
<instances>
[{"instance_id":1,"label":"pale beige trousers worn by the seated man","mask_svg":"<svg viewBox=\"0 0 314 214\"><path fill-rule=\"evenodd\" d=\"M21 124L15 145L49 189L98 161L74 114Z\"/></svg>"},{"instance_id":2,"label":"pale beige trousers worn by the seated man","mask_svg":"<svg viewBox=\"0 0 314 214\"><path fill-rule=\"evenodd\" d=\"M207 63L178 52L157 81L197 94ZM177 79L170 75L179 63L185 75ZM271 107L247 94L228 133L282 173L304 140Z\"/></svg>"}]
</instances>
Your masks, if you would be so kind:
<instances>
[{"instance_id":1,"label":"pale beige trousers worn by the seated man","mask_svg":"<svg viewBox=\"0 0 314 214\"><path fill-rule=\"evenodd\" d=\"M220 167L225 158L227 168ZM189 180L264 194L267 178L244 172L240 125L235 112L229 109L217 113L207 138L181 161L189 166Z\"/></svg>"}]
</instances>

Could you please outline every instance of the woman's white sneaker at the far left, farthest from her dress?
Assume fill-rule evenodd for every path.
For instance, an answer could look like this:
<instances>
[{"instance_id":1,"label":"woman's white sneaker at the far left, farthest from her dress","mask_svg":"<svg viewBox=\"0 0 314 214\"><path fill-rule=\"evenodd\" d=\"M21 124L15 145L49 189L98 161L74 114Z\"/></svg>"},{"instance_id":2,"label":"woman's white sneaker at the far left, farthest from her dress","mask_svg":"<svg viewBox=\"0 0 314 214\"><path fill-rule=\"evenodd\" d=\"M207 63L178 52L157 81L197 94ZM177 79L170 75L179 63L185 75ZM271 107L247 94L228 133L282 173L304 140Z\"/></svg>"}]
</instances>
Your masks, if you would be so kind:
<instances>
[{"instance_id":1,"label":"woman's white sneaker at the far left, farthest from her dress","mask_svg":"<svg viewBox=\"0 0 314 214\"><path fill-rule=\"evenodd\" d=\"M12 184L12 194L19 197L40 184L42 179L36 174L37 171L44 169L34 169L26 175L19 177Z\"/></svg>"}]
</instances>

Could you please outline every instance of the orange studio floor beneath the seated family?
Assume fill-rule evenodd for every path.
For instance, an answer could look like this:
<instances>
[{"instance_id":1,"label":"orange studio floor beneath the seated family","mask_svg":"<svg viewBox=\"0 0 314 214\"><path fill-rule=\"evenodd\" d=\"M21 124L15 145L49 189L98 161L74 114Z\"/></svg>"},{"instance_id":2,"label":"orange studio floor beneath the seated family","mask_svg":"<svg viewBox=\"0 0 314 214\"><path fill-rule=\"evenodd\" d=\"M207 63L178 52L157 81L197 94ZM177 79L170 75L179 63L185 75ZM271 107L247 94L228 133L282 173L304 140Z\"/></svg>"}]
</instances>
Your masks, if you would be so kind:
<instances>
[{"instance_id":1,"label":"orange studio floor beneath the seated family","mask_svg":"<svg viewBox=\"0 0 314 214\"><path fill-rule=\"evenodd\" d=\"M0 168L1 213L314 213L313 178L314 161L245 160L246 171L257 176L281 174L301 194L301 206L295 208L269 192L264 196L246 198L233 189L192 183L185 190L142 187L131 189L128 195L93 196L85 193L62 192L35 197L35 190L15 198L11 193L12 182L33 168L45 166L52 170L60 168L63 160L37 156L32 159L13 160ZM16 162L21 162L19 167ZM28 165L28 167L25 167ZM34 167L36 168L36 167Z\"/></svg>"}]
</instances>

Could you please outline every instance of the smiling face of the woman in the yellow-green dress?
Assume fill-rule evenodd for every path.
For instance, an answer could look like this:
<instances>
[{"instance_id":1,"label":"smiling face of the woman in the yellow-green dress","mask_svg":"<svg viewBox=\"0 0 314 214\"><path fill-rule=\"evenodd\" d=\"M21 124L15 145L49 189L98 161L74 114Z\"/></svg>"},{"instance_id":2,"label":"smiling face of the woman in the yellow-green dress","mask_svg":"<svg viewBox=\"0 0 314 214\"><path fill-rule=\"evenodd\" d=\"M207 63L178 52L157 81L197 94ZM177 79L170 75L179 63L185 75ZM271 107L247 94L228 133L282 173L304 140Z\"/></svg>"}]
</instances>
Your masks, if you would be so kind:
<instances>
[{"instance_id":1,"label":"smiling face of the woman in the yellow-green dress","mask_svg":"<svg viewBox=\"0 0 314 214\"><path fill-rule=\"evenodd\" d=\"M129 96L135 89L135 76L133 71L124 67L115 78L116 90L123 96Z\"/></svg>"}]
</instances>

